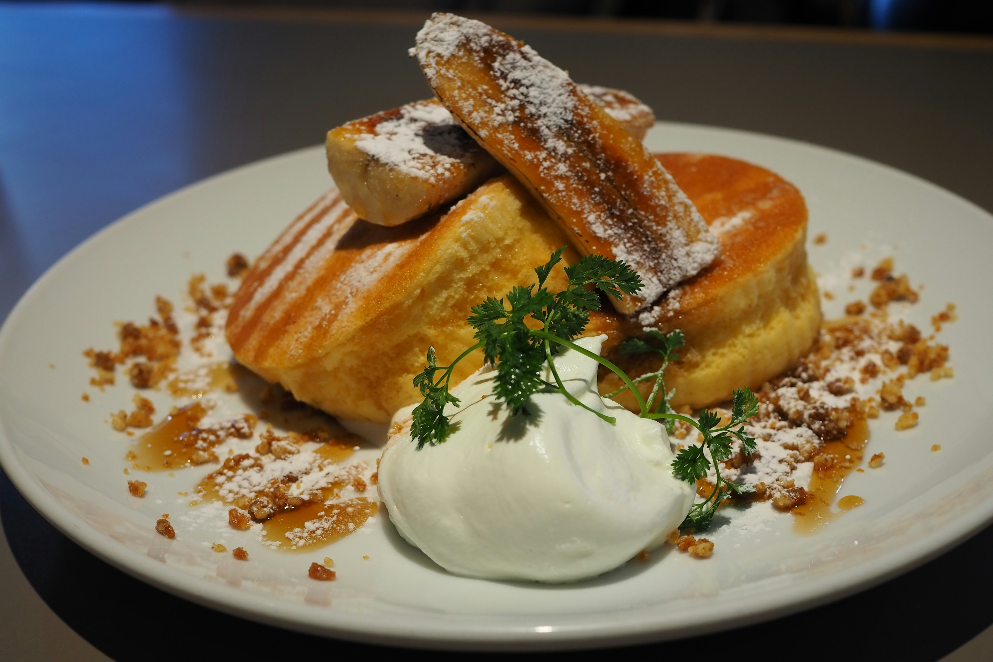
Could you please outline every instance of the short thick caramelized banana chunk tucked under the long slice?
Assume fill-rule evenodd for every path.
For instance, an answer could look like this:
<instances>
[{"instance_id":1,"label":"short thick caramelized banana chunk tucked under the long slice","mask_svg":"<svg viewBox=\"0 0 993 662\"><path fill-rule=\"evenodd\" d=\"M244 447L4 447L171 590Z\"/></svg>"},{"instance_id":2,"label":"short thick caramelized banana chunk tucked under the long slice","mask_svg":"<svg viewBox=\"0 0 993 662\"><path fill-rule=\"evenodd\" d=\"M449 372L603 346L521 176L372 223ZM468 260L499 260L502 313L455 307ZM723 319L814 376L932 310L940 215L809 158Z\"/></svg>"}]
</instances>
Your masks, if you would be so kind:
<instances>
[{"instance_id":1,"label":"short thick caramelized banana chunk tucked under the long slice","mask_svg":"<svg viewBox=\"0 0 993 662\"><path fill-rule=\"evenodd\" d=\"M415 101L328 132L328 171L355 213L399 225L502 169L438 101Z\"/></svg>"}]
</instances>

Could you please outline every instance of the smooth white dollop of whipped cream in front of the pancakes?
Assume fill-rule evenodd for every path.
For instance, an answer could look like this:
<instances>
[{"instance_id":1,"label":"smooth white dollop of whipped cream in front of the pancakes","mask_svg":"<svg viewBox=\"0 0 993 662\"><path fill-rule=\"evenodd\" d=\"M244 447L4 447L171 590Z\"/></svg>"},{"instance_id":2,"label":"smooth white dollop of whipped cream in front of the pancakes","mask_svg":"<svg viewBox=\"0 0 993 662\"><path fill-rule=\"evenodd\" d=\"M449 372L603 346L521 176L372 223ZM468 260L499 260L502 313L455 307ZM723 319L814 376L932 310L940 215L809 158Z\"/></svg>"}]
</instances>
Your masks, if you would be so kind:
<instances>
[{"instance_id":1,"label":"smooth white dollop of whipped cream in front of the pancakes","mask_svg":"<svg viewBox=\"0 0 993 662\"><path fill-rule=\"evenodd\" d=\"M577 340L599 353L606 335ZM400 535L456 575L575 582L661 545L693 502L672 475L665 429L604 400L598 363L566 349L565 387L615 425L560 393L536 393L512 416L485 367L452 393L452 432L417 450L412 407L394 416L378 469L379 497ZM548 365L544 378L554 382Z\"/></svg>"}]
</instances>

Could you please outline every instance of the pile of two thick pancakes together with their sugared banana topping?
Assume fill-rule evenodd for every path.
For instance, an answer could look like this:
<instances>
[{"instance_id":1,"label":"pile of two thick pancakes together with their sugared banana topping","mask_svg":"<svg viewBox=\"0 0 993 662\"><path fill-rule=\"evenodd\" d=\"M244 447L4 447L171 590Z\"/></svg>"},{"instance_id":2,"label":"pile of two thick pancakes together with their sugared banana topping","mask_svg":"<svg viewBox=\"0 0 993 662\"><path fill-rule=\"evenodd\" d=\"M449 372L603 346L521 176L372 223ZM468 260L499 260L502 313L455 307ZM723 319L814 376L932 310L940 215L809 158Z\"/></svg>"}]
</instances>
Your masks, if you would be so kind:
<instances>
[{"instance_id":1,"label":"pile of two thick pancakes together with their sugared banana topping","mask_svg":"<svg viewBox=\"0 0 993 662\"><path fill-rule=\"evenodd\" d=\"M256 261L231 308L244 365L342 419L388 422L419 399L428 345L454 359L473 343L470 307L533 283L565 244L567 264L625 259L648 285L587 330L608 333L629 374L657 366L614 355L625 337L685 333L666 372L673 405L758 386L809 347L820 311L794 187L724 157L648 155L636 136L650 109L573 84L479 22L435 15L416 53L439 100L329 133L338 189ZM556 269L547 286L564 285ZM453 383L482 360L464 359Z\"/></svg>"}]
</instances>

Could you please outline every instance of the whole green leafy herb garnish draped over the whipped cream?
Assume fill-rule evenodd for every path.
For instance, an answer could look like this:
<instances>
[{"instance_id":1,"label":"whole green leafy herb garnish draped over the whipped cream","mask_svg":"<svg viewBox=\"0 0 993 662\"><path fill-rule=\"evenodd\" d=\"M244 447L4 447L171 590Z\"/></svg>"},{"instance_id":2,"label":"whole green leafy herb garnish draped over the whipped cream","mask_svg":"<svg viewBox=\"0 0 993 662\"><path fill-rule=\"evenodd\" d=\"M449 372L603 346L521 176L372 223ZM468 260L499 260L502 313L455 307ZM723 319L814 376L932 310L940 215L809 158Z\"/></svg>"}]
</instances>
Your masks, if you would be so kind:
<instances>
[{"instance_id":1,"label":"whole green leafy herb garnish draped over the whipped cream","mask_svg":"<svg viewBox=\"0 0 993 662\"><path fill-rule=\"evenodd\" d=\"M510 409L513 416L529 415L526 403L538 391L561 393L569 402L587 409L608 423L617 422L613 417L590 409L566 390L555 369L552 356L562 347L569 347L584 356L594 359L616 373L625 386L606 397L613 397L630 390L638 401L640 416L663 422L669 433L676 420L689 423L700 431L703 442L679 452L673 461L673 472L679 479L694 483L707 475L711 460L717 474L717 484L707 500L693 505L680 528L706 525L721 501L732 495L752 491L751 487L738 485L721 477L718 463L732 456L732 437L739 439L746 455L755 453L755 439L744 431L744 424L759 412L759 401L747 387L734 394L732 421L718 428L720 417L712 411L702 411L699 422L676 414L669 406L673 392L665 392L662 373L669 361L678 360L675 350L682 346L681 331L663 334L660 331L646 331L645 338L629 338L622 343L622 354L656 352L662 359L661 367L651 373L632 380L621 368L572 342L580 335L590 321L589 311L600 310L601 293L621 299L624 295L637 293L641 287L638 273L619 260L611 260L602 255L587 255L575 264L565 267L569 283L566 289L552 294L545 287L545 281L552 269L562 260L565 246L552 253L548 262L534 270L538 277L537 285L515 287L505 299L488 297L486 301L471 309L469 325L476 330L476 344L466 349L450 365L439 366L434 347L428 348L427 365L424 371L414 377L414 386L420 390L424 400L413 411L411 437L417 441L418 450L425 444L435 446L444 442L450 433L450 423L445 416L445 406L449 403L459 406L459 399L449 392L452 371L463 358L477 349L483 349L484 359L496 364L494 395ZM539 329L530 329L526 321L539 323ZM548 363L554 383L542 377L541 370ZM440 376L438 373L441 372ZM648 400L641 396L638 383L654 379L655 384ZM737 426L737 429L735 427Z\"/></svg>"}]
</instances>

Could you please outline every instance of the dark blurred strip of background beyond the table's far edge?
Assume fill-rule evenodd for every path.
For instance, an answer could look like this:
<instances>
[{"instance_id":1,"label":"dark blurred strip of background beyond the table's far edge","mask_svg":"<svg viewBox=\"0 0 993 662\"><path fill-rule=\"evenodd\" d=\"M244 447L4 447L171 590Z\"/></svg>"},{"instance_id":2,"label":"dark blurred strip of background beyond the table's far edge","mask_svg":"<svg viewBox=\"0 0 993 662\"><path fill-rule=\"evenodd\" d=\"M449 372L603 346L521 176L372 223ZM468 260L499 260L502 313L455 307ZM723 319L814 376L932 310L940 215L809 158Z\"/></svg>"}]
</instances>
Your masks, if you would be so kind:
<instances>
[{"instance_id":1,"label":"dark blurred strip of background beyond the table's far edge","mask_svg":"<svg viewBox=\"0 0 993 662\"><path fill-rule=\"evenodd\" d=\"M173 4L645 17L993 33L991 0L184 0Z\"/></svg>"}]
</instances>

